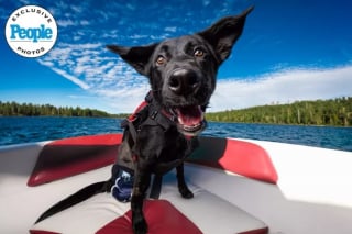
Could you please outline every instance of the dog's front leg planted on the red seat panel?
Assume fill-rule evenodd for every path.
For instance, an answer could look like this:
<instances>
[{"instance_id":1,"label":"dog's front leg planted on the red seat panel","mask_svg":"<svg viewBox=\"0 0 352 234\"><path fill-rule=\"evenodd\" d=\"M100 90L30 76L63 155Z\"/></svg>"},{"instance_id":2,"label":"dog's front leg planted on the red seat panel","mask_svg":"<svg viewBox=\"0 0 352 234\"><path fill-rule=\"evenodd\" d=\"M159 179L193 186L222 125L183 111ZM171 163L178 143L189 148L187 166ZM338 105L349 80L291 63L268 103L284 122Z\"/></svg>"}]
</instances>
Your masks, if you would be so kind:
<instances>
[{"instance_id":1,"label":"dog's front leg planted on the red seat panel","mask_svg":"<svg viewBox=\"0 0 352 234\"><path fill-rule=\"evenodd\" d=\"M134 185L131 198L132 227L134 234L147 233L147 223L143 215L143 201L151 182L148 170L138 169L134 174Z\"/></svg>"}]
</instances>

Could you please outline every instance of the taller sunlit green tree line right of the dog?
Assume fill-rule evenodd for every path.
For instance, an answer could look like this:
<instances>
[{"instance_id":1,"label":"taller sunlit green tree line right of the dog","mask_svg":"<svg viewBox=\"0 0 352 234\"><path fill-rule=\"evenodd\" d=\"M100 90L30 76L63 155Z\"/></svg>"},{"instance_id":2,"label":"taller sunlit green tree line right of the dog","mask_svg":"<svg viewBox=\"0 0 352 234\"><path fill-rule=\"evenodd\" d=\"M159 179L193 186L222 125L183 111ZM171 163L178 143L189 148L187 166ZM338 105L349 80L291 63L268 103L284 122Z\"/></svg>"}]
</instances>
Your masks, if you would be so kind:
<instances>
[{"instance_id":1,"label":"taller sunlit green tree line right of the dog","mask_svg":"<svg viewBox=\"0 0 352 234\"><path fill-rule=\"evenodd\" d=\"M209 121L352 126L352 97L207 113Z\"/></svg>"}]
</instances>

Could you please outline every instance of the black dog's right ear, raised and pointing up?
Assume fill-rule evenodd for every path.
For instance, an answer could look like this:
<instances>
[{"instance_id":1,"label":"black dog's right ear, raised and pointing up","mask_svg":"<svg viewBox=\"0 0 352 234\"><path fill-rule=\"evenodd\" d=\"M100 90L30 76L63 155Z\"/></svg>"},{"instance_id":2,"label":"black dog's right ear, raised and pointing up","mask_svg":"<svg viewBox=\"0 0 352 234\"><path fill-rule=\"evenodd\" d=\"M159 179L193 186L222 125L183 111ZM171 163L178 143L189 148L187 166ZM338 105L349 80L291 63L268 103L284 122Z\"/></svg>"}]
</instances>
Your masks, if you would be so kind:
<instances>
[{"instance_id":1,"label":"black dog's right ear, raised and pointing up","mask_svg":"<svg viewBox=\"0 0 352 234\"><path fill-rule=\"evenodd\" d=\"M229 57L232 46L242 34L245 18L253 9L254 7L251 7L240 15L223 18L209 29L198 33L212 45L220 64Z\"/></svg>"}]
</instances>

